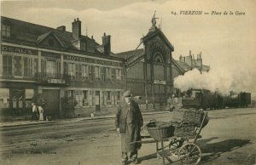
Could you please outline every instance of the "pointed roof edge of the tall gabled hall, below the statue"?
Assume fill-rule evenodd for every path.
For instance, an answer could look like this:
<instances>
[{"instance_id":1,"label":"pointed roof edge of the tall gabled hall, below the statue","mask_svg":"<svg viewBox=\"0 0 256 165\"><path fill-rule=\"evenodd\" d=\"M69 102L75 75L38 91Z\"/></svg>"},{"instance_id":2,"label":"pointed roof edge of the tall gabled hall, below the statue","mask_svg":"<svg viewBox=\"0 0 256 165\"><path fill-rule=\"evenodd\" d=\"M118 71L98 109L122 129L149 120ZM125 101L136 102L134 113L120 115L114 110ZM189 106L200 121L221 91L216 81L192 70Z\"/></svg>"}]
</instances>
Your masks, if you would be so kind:
<instances>
[{"instance_id":1,"label":"pointed roof edge of the tall gabled hall, below the statue","mask_svg":"<svg viewBox=\"0 0 256 165\"><path fill-rule=\"evenodd\" d=\"M170 48L172 51L174 51L174 48L172 46L172 43L169 42L169 40L166 38L164 33L160 31L157 27L155 27L154 31L148 31L148 34L142 38L143 43L147 43L148 40L152 39L153 37L160 36L163 38L163 41L166 43L168 48Z\"/></svg>"}]
</instances>

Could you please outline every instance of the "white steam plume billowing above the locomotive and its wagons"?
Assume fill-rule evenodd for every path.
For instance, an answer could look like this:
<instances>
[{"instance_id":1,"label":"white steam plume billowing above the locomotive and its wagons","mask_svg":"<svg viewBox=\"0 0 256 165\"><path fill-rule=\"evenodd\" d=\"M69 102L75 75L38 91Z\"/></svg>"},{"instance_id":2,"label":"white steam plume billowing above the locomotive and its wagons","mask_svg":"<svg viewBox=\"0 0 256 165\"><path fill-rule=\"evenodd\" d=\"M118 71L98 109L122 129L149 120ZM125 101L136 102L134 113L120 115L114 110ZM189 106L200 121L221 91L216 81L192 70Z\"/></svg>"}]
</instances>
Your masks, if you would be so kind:
<instances>
[{"instance_id":1,"label":"white steam plume billowing above the locomotive and its wagons","mask_svg":"<svg viewBox=\"0 0 256 165\"><path fill-rule=\"evenodd\" d=\"M241 78L242 77L242 78ZM189 88L208 89L212 92L218 90L221 94L230 94L230 91L250 92L247 87L252 77L246 72L224 71L223 69L211 69L209 72L200 72L197 69L186 72L174 79L174 87L182 91Z\"/></svg>"}]
</instances>

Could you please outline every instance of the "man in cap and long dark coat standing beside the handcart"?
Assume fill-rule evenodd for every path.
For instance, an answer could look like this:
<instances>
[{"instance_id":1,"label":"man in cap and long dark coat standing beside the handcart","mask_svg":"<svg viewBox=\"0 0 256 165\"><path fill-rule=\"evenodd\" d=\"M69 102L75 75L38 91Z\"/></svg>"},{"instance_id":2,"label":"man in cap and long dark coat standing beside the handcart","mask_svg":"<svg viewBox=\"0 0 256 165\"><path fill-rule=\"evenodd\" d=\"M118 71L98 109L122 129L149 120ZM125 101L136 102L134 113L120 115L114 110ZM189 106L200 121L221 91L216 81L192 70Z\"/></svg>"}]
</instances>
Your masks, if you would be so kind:
<instances>
[{"instance_id":1,"label":"man in cap and long dark coat standing beside the handcart","mask_svg":"<svg viewBox=\"0 0 256 165\"><path fill-rule=\"evenodd\" d=\"M130 159L137 164L137 151L141 148L140 143L131 144L131 142L141 140L141 130L143 128L143 116L139 106L134 100L131 100L130 90L125 91L123 99L115 117L115 126L121 134L121 161L126 164L128 161L127 152L130 152Z\"/></svg>"}]
</instances>

